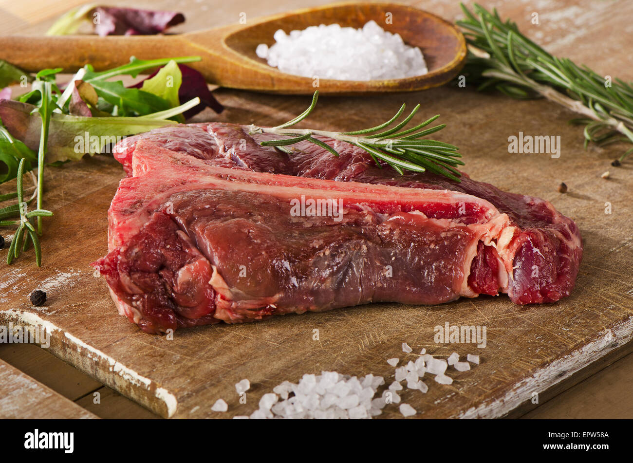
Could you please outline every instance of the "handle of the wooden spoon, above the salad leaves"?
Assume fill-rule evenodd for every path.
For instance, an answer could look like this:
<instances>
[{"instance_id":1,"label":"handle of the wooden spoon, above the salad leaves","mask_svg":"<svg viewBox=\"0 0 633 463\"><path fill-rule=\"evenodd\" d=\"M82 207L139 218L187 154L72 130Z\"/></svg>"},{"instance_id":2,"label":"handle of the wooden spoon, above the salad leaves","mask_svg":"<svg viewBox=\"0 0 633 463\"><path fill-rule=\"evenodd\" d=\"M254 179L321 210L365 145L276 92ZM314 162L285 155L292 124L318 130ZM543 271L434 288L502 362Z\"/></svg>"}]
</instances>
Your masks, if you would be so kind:
<instances>
[{"instance_id":1,"label":"handle of the wooden spoon, above the salad leaves","mask_svg":"<svg viewBox=\"0 0 633 463\"><path fill-rule=\"evenodd\" d=\"M186 42L172 35L111 36L61 35L41 37L11 35L0 37L0 59L28 72L63 68L74 72L90 63L105 70L128 63L130 56L159 59L184 56L191 51ZM195 53L194 53L195 54Z\"/></svg>"}]
</instances>

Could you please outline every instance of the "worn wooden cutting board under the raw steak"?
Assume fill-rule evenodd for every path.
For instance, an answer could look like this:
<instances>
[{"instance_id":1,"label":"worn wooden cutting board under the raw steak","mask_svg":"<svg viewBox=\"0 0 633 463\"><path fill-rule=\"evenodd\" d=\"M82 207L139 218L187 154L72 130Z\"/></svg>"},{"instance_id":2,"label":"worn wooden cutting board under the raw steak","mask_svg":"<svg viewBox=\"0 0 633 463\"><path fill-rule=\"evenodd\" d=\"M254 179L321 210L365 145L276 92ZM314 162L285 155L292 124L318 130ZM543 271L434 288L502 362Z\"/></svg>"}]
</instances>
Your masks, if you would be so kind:
<instances>
[{"instance_id":1,"label":"worn wooden cutting board under the raw steak","mask_svg":"<svg viewBox=\"0 0 633 463\"><path fill-rule=\"evenodd\" d=\"M630 80L624 42L625 18L633 6L586 3L576 7L563 2L541 11L536 30L530 29L527 6L513 4L500 11L536 40L541 37L539 41L556 54ZM439 2L418 6L451 20L458 15L454 6ZM613 8L620 13L613 15ZM244 5L234 9L237 16ZM279 8L257 11L266 14ZM600 34L609 37L601 44L609 50L594 56L592 37ZM272 125L308 104L303 97L235 90L218 90L216 95L227 109L221 116L204 113L201 120ZM449 370L452 385L439 385L427 376L428 393L403 392L403 402L417 409L417 417L499 417L534 406L534 394L542 402L546 391L555 390L561 381L622 352L633 337L633 168L631 161L620 168L611 167L610 161L623 147L585 150L582 129L567 124L572 113L546 101L477 94L468 84L465 89L443 87L397 97L323 98L304 127L369 127L389 118L402 102L422 103L421 118L442 114L448 127L438 138L461 148L465 170L473 178L547 199L575 219L585 251L570 297L527 307L516 306L505 296L441 306L373 304L182 330L173 340L146 335L118 316L104 280L95 278L89 266L106 252L106 212L123 177L113 159L95 156L47 169L45 206L54 217L45 221L42 268L35 267L32 250L11 266L0 264L0 323L44 325L51 333L50 352L165 417L250 414L261 395L281 381L296 382L304 373L322 370L380 374L390 383L393 368L386 359L415 360L422 348L441 357L451 352L463 357L479 354L481 364L463 373ZM508 137L519 131L560 135L560 158L508 154ZM601 178L606 170L608 180ZM561 181L569 187L567 194L556 191ZM3 185L0 192L13 187ZM609 205L611 213L605 213ZM6 237L6 229L1 232ZM4 257L6 248L0 251L0 259ZM38 288L47 292L46 306L28 302L29 293ZM486 347L434 342L434 327L447 322L485 325ZM403 342L413 347L413 354L402 352ZM234 388L243 378L252 385L246 404L239 403ZM229 404L228 413L211 411L218 398ZM400 415L391 405L383 416Z\"/></svg>"}]
</instances>

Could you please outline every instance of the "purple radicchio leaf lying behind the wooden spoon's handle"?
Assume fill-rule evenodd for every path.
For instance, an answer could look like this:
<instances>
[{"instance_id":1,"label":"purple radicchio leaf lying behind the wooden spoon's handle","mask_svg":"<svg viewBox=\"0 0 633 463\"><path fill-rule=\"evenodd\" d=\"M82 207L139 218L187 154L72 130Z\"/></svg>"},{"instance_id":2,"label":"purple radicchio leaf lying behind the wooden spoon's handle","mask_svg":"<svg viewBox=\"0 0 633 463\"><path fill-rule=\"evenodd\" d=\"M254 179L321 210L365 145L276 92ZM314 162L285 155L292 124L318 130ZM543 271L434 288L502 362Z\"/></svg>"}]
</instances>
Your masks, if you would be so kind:
<instances>
[{"instance_id":1,"label":"purple radicchio leaf lying behind the wooden spoon's handle","mask_svg":"<svg viewBox=\"0 0 633 463\"><path fill-rule=\"evenodd\" d=\"M185 21L182 13L148 9L97 6L89 17L96 18L94 32L101 35L153 35Z\"/></svg>"}]
</instances>

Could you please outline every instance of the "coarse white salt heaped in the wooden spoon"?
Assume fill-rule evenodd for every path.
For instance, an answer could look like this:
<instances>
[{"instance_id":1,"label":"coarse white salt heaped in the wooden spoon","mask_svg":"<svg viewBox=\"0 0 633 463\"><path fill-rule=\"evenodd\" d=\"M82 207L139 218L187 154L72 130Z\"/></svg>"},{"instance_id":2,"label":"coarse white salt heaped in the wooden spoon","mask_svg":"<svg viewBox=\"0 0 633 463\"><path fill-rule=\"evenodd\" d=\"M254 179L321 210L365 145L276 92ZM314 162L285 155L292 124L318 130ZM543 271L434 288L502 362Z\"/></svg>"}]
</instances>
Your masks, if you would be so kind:
<instances>
[{"instance_id":1,"label":"coarse white salt heaped in the wooden spoon","mask_svg":"<svg viewBox=\"0 0 633 463\"><path fill-rule=\"evenodd\" d=\"M418 47L404 44L399 34L370 21L363 28L338 24L310 26L289 35L277 30L275 44L255 52L269 66L285 73L335 80L385 80L426 74Z\"/></svg>"}]
</instances>

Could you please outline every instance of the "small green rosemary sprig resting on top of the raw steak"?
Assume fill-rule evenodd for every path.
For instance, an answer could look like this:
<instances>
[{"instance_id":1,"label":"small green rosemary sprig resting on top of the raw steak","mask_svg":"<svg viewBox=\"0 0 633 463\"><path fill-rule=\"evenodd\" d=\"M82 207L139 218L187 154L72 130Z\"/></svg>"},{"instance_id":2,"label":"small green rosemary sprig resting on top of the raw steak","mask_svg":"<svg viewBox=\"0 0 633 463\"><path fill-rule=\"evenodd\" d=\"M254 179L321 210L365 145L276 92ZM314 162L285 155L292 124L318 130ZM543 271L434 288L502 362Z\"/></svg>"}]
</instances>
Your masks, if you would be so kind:
<instances>
[{"instance_id":1,"label":"small green rosemary sprig resting on top of the raw steak","mask_svg":"<svg viewBox=\"0 0 633 463\"><path fill-rule=\"evenodd\" d=\"M286 148L287 146L306 141L326 149L334 154L334 156L339 156L339 153L334 147L314 137L315 135L321 135L323 137L329 137L330 139L348 142L351 145L363 149L368 152L377 166L382 168L383 164L387 164L398 171L400 175L403 175L405 170L413 172L429 170L436 174L447 176L456 182L461 182L461 173L454 168L455 166L464 164L460 159L457 159L461 157L461 154L457 152L458 148L451 144L435 140L420 140L422 137L446 127L446 124L441 124L435 127L425 128L439 118L439 115L433 116L415 127L405 130L404 127L406 127L413 116L415 116L418 109L420 109L420 105L415 106L413 111L411 111L406 118L396 123L404 112L406 105L403 104L398 110L398 113L390 120L376 127L364 130L330 132L327 130L289 128L309 116L316 106L316 101L318 101L318 90L312 97L310 107L296 118L275 127L257 127L253 125L251 126L251 133L273 133L275 135L290 137L261 142L263 146L274 146L288 154L292 154L292 150ZM387 128L394 123L396 123L396 125Z\"/></svg>"}]
</instances>

